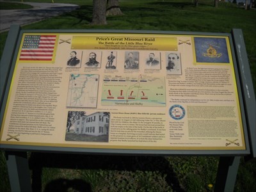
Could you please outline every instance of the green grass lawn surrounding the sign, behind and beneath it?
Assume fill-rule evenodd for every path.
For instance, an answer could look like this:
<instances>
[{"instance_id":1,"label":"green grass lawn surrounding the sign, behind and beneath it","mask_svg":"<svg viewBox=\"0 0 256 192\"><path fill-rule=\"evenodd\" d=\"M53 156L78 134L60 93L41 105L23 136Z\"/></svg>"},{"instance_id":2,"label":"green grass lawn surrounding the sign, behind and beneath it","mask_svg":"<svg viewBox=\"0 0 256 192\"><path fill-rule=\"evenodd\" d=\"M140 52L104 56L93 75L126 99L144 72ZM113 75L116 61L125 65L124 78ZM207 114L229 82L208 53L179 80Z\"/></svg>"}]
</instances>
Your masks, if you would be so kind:
<instances>
[{"instance_id":1,"label":"green grass lawn surrounding the sign, behind and beneath it","mask_svg":"<svg viewBox=\"0 0 256 192\"><path fill-rule=\"evenodd\" d=\"M242 29L256 90L256 10L244 10L235 4L223 2L219 2L218 8L214 8L211 0L200 0L198 7L193 6L191 0L128 0L120 1L124 15L108 17L108 25L92 26L92 1L56 0L54 3L79 4L81 8L23 26L22 29L132 29L216 33L230 33L233 28ZM0 33L0 55L6 36L6 32ZM10 191L3 152L0 155L0 191ZM39 164L47 161L47 157L51 159L51 155L41 157L42 162L39 161ZM65 159L70 164L76 164L74 160L68 159L68 156L61 158L56 164ZM42 174L38 173L42 177L41 180L33 177L34 181L38 182L37 191L44 191L49 186L54 188L64 182L70 185L78 183L84 186L84 189L92 191L213 191L218 167L218 157L81 156L79 159L81 162L77 162L87 163L88 166L75 166L70 170L58 166L49 168L49 164L54 164L54 160L49 164L42 164ZM254 191L255 178L255 159L250 162L244 162L242 159L235 191Z\"/></svg>"}]
</instances>

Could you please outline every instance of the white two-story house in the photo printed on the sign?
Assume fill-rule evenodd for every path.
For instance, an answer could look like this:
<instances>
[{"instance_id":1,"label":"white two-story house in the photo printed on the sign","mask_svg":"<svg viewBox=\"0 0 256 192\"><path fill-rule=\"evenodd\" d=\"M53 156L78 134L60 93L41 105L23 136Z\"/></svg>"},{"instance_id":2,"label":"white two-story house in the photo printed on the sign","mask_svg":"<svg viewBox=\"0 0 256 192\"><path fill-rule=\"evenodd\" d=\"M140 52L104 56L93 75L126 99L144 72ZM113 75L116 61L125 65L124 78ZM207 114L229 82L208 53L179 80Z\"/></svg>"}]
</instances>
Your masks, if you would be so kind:
<instances>
[{"instance_id":1,"label":"white two-story house in the photo printed on the sign","mask_svg":"<svg viewBox=\"0 0 256 192\"><path fill-rule=\"evenodd\" d=\"M104 116L104 112L96 112L91 115L81 116L77 119L74 133L100 136L108 134L108 129L109 115Z\"/></svg>"}]
</instances>

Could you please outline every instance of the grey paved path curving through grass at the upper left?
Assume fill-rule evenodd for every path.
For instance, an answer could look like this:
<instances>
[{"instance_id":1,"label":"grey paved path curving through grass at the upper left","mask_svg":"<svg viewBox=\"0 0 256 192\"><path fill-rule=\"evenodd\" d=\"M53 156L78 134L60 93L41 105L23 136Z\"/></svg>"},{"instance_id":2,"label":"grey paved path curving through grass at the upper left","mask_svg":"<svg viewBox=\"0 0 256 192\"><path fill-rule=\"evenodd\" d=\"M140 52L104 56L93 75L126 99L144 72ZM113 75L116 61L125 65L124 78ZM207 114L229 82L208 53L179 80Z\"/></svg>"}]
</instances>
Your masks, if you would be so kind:
<instances>
[{"instance_id":1,"label":"grey paved path curving through grass at the upper left","mask_svg":"<svg viewBox=\"0 0 256 192\"><path fill-rule=\"evenodd\" d=\"M63 3L26 2L24 4L30 4L33 8L28 10L0 10L0 32L8 31L13 24L24 26L79 8L76 4Z\"/></svg>"}]
</instances>

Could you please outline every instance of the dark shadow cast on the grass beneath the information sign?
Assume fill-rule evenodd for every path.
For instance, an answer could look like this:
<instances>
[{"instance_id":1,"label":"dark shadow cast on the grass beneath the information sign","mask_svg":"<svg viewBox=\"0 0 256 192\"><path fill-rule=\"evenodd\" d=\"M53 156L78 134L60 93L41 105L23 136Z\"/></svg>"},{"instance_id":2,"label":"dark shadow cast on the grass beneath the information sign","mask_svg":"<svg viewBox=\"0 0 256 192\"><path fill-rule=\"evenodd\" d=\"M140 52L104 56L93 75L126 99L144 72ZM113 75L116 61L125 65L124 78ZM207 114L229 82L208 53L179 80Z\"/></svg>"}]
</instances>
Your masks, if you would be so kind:
<instances>
[{"instance_id":1,"label":"dark shadow cast on the grass beneath the information sign","mask_svg":"<svg viewBox=\"0 0 256 192\"><path fill-rule=\"evenodd\" d=\"M170 163L164 157L156 156L110 156L110 155L83 155L83 154L46 154L33 152L29 158L32 170L33 191L42 191L43 168L68 168L76 170L115 170L115 171L142 171L159 172L166 175L166 183L173 191L184 191L180 188ZM91 186L84 180L65 178L52 180L45 186L45 192L54 189L72 188L81 191L92 191Z\"/></svg>"}]
</instances>

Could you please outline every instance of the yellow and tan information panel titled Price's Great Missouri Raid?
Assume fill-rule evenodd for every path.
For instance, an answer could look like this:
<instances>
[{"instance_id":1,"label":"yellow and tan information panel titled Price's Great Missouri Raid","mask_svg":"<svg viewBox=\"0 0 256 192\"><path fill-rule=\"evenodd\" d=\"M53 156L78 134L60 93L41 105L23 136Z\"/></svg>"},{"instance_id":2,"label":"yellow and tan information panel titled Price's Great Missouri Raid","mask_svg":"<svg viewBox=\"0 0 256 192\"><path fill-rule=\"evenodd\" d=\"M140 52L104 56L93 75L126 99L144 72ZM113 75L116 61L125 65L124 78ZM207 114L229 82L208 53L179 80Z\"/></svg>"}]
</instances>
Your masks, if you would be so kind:
<instances>
[{"instance_id":1,"label":"yellow and tan information panel titled Price's Great Missouri Raid","mask_svg":"<svg viewBox=\"0 0 256 192\"><path fill-rule=\"evenodd\" d=\"M245 150L228 36L24 33L1 144Z\"/></svg>"}]
</instances>

